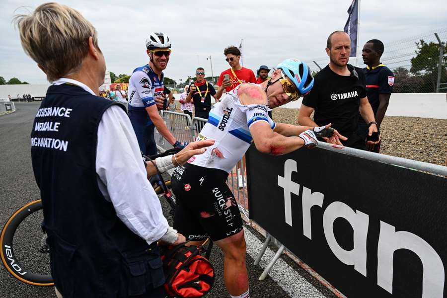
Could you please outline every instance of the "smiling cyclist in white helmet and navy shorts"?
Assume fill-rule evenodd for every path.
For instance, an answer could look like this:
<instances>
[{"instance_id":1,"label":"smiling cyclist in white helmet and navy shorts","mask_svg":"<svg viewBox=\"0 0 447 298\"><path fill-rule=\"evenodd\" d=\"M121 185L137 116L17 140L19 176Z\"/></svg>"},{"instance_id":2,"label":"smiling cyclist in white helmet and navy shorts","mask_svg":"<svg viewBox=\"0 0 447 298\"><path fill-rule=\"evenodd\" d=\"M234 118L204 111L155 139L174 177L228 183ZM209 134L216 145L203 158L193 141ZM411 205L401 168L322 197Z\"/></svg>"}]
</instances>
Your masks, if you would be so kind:
<instances>
[{"instance_id":1,"label":"smiling cyclist in white helmet and navy shorts","mask_svg":"<svg viewBox=\"0 0 447 298\"><path fill-rule=\"evenodd\" d=\"M150 33L146 39L146 53L149 63L136 68L129 79L129 118L137 135L138 145L144 154L154 155L157 147L154 129L175 148L185 148L188 143L180 143L169 131L158 114L164 104L163 70L169 62L171 40L161 32Z\"/></svg>"}]
</instances>

